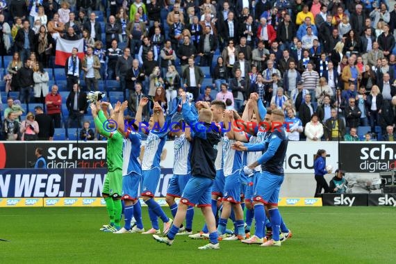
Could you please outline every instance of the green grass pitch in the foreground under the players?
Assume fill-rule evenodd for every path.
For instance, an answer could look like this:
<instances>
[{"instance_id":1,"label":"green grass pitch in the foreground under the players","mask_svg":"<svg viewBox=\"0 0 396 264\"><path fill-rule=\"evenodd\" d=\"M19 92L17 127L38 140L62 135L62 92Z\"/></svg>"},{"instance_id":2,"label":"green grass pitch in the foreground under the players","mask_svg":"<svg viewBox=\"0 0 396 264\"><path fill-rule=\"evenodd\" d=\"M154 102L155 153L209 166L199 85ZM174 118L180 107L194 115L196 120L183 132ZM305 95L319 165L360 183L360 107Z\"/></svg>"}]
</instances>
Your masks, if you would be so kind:
<instances>
[{"instance_id":1,"label":"green grass pitch in the foreground under the players","mask_svg":"<svg viewBox=\"0 0 396 264\"><path fill-rule=\"evenodd\" d=\"M149 229L147 208L142 208ZM281 208L293 238L280 248L102 233L105 208L0 208L0 263L395 263L395 208ZM170 211L167 211L170 215ZM203 223L196 210L194 231ZM160 223L162 227L162 224ZM118 248L118 251L117 251ZM392 261L393 260L393 261Z\"/></svg>"}]
</instances>

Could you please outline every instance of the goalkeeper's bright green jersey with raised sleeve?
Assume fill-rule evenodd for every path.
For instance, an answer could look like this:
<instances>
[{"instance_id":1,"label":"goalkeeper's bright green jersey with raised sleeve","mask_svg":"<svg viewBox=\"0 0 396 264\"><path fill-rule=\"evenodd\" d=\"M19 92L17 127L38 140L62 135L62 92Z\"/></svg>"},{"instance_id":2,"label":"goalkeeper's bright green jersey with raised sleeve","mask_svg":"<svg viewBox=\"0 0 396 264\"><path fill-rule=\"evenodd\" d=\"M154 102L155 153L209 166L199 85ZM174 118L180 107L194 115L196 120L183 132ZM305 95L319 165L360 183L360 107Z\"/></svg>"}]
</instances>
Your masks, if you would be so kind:
<instances>
[{"instance_id":1,"label":"goalkeeper's bright green jersey with raised sleeve","mask_svg":"<svg viewBox=\"0 0 396 264\"><path fill-rule=\"evenodd\" d=\"M107 138L107 167L109 172L115 170L122 170L122 145L124 144L124 137L119 131L110 132L104 129L104 122L106 117L102 110L99 110L98 116L94 119L94 122L101 135Z\"/></svg>"}]
</instances>

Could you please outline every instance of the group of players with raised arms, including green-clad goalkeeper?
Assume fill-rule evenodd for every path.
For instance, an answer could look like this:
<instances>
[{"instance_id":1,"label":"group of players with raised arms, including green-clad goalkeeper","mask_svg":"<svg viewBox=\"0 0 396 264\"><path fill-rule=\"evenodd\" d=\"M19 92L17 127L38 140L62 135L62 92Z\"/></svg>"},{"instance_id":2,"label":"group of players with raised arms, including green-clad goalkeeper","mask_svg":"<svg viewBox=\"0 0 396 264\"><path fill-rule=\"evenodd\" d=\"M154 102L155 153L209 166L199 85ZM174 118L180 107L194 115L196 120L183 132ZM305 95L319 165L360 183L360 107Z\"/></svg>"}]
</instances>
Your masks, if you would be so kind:
<instances>
[{"instance_id":1,"label":"group of players with raised arms, including green-clad goalkeeper","mask_svg":"<svg viewBox=\"0 0 396 264\"><path fill-rule=\"evenodd\" d=\"M137 131L148 101L147 98L140 100L133 127L124 125L127 101L118 102L114 109L106 102L90 105L97 130L108 138L108 174L102 193L110 224L104 225L101 231L153 234L155 240L167 245L172 245L176 235L210 240L199 249L220 249L219 240L241 240L264 247L281 246L281 242L291 238L292 233L277 208L288 145L282 126L283 111L267 110L256 93L251 94L242 117L233 110L226 110L222 101L213 101L210 107L199 101L195 110L183 93L179 111L175 110L165 120L161 106L155 103L149 125L147 129L143 128L148 136L140 163L141 135ZM176 115L179 119L172 119ZM113 132L105 129L110 119L117 121L117 130ZM276 125L261 129L245 127L248 133L238 132L241 129L235 127L234 120L237 119ZM172 127L162 129L170 124L170 120ZM175 137L174 175L166 197L174 220L167 217L154 200L160 179L160 155L168 133ZM139 185L152 226L148 231L142 224ZM176 197L181 197L179 205L175 202ZM124 200L122 227L121 199ZM192 234L194 206L201 208L206 224L199 233ZM219 212L216 221L215 215ZM160 235L158 218L164 223L163 236ZM226 229L229 218L234 224L232 234ZM252 220L256 225L254 235L250 236Z\"/></svg>"}]
</instances>

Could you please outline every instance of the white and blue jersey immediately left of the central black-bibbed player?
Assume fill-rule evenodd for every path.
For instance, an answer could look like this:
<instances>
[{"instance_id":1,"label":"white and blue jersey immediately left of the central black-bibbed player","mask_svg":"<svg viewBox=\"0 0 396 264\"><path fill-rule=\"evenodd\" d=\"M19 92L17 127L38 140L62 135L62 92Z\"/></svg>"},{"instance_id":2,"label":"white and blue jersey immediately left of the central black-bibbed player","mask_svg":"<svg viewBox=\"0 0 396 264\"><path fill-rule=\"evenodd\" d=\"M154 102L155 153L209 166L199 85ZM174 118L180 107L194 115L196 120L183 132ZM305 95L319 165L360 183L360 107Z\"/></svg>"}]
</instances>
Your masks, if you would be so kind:
<instances>
[{"instance_id":1,"label":"white and blue jersey immediately left of the central black-bibbed player","mask_svg":"<svg viewBox=\"0 0 396 264\"><path fill-rule=\"evenodd\" d=\"M187 175L191 172L191 143L185 134L174 138L173 174Z\"/></svg>"}]
</instances>

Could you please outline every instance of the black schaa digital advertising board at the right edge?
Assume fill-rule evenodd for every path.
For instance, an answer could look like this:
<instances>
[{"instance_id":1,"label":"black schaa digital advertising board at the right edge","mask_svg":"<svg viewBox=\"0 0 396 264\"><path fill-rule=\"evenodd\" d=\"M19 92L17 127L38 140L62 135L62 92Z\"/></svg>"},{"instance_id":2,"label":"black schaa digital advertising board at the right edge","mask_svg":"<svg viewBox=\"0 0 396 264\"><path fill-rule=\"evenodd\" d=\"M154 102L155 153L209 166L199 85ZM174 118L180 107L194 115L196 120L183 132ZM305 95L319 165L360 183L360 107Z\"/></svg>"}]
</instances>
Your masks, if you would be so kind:
<instances>
[{"instance_id":1,"label":"black schaa digital advertising board at the right edge","mask_svg":"<svg viewBox=\"0 0 396 264\"><path fill-rule=\"evenodd\" d=\"M342 143L340 160L347 172L382 172L396 168L396 142Z\"/></svg>"}]
</instances>

